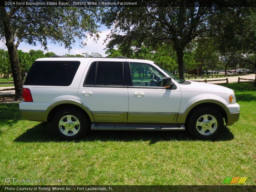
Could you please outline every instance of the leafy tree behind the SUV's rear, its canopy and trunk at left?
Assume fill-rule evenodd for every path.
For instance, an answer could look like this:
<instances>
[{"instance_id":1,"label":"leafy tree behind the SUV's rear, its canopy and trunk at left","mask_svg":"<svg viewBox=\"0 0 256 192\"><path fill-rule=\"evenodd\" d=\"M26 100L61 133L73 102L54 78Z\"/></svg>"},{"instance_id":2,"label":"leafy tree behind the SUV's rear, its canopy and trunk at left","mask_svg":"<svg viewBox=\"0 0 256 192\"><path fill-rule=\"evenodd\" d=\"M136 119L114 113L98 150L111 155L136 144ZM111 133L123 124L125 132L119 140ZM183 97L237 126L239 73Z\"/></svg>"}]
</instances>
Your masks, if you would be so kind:
<instances>
[{"instance_id":1,"label":"leafy tree behind the SUV's rear, its canopy and trunk at left","mask_svg":"<svg viewBox=\"0 0 256 192\"><path fill-rule=\"evenodd\" d=\"M0 7L0 39L6 41L14 86L15 100L22 97L22 77L17 54L20 42L47 49L47 41L70 49L75 40L88 36L97 39L97 7Z\"/></svg>"}]
</instances>

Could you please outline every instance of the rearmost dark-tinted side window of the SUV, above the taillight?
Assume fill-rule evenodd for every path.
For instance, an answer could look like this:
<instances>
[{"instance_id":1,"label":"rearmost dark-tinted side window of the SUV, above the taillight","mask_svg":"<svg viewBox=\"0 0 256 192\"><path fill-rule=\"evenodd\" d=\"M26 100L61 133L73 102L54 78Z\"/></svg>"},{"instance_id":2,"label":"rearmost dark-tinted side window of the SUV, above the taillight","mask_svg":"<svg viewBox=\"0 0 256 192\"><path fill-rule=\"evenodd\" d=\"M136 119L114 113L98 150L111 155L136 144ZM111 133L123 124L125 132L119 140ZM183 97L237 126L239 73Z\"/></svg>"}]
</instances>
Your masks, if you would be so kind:
<instances>
[{"instance_id":1,"label":"rearmost dark-tinted side window of the SUV, above the taillight","mask_svg":"<svg viewBox=\"0 0 256 192\"><path fill-rule=\"evenodd\" d=\"M79 61L36 61L24 84L69 86L79 65Z\"/></svg>"}]
</instances>

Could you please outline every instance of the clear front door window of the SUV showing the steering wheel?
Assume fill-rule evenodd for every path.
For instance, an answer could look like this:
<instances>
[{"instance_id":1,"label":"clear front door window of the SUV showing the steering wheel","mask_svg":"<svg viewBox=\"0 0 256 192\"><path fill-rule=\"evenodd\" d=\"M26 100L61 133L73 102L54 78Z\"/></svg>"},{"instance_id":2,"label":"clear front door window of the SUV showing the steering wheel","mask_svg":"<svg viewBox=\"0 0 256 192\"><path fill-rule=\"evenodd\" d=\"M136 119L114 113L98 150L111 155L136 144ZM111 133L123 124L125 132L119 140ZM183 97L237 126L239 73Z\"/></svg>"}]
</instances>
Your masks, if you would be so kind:
<instances>
[{"instance_id":1,"label":"clear front door window of the SUV showing the steering wheel","mask_svg":"<svg viewBox=\"0 0 256 192\"><path fill-rule=\"evenodd\" d=\"M164 75L156 68L145 63L130 63L132 85L160 87Z\"/></svg>"}]
</instances>

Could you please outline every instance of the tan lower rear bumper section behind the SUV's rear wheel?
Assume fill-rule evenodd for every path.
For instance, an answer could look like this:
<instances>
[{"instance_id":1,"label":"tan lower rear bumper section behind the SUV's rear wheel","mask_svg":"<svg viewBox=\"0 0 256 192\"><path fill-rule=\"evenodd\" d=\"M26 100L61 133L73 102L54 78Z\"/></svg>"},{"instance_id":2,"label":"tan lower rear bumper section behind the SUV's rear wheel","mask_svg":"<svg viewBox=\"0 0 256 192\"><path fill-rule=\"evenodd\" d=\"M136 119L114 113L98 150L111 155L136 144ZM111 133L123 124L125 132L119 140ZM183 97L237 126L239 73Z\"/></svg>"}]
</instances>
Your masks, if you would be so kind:
<instances>
[{"instance_id":1,"label":"tan lower rear bumper section behind the SUV's rear wheel","mask_svg":"<svg viewBox=\"0 0 256 192\"><path fill-rule=\"evenodd\" d=\"M47 122L47 115L45 111L20 109L20 117L30 121Z\"/></svg>"}]
</instances>

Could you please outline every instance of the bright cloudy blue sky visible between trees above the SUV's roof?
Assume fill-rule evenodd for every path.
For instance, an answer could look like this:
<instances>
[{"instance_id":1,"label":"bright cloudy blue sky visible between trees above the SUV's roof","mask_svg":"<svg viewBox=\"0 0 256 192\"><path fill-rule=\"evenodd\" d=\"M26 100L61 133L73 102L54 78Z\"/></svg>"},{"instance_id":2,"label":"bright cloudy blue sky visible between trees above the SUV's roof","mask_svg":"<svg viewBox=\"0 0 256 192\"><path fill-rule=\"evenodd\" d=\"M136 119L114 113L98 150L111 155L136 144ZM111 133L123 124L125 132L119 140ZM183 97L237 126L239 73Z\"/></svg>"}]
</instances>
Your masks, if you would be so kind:
<instances>
[{"instance_id":1,"label":"bright cloudy blue sky visible between trees above the SUV's roof","mask_svg":"<svg viewBox=\"0 0 256 192\"><path fill-rule=\"evenodd\" d=\"M60 46L59 44L53 44L48 42L48 50L44 50L44 47L41 47L40 43L37 43L36 46L30 45L30 44L26 44L24 42L21 42L18 50L21 50L23 52L28 52L31 49L34 50L42 50L44 51L44 53L46 52L54 52L56 55L65 55L66 53L75 55L75 54L82 54L85 52L88 52L89 54L91 52L97 52L100 53L102 55L102 57L107 56L105 54L104 48L106 48L106 44L104 43L104 39L106 39L106 36L110 33L110 29L108 29L106 26L101 26L99 28L99 30L101 31L100 38L97 40L97 42L93 41L92 38L89 38L86 40L84 39L83 41L86 41L87 45L85 45L84 47L81 47L80 44L81 42L76 41L76 43L74 45L72 45L72 49L70 50L70 52L68 52L68 49L65 49L65 46L62 45ZM4 43L1 43L1 48L6 48L4 46Z\"/></svg>"}]
</instances>

